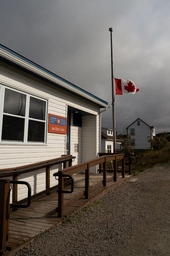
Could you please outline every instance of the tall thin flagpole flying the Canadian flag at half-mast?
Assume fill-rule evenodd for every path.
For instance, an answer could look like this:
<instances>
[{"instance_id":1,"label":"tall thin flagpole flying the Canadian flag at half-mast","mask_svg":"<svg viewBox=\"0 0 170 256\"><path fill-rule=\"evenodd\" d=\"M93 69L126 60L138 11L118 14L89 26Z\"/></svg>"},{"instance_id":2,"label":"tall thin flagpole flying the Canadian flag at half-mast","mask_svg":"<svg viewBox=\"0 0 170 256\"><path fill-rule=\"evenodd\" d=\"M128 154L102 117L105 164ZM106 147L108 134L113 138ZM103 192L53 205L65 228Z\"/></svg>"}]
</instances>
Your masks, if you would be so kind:
<instances>
[{"instance_id":1,"label":"tall thin flagpole flying the Canadian flag at half-mast","mask_svg":"<svg viewBox=\"0 0 170 256\"><path fill-rule=\"evenodd\" d=\"M114 92L114 77L113 77L113 49L112 49L112 31L113 28L109 28L110 40L111 40L111 75L112 75L112 122L113 122L113 153L116 153L116 127L115 127L115 92Z\"/></svg>"}]
</instances>

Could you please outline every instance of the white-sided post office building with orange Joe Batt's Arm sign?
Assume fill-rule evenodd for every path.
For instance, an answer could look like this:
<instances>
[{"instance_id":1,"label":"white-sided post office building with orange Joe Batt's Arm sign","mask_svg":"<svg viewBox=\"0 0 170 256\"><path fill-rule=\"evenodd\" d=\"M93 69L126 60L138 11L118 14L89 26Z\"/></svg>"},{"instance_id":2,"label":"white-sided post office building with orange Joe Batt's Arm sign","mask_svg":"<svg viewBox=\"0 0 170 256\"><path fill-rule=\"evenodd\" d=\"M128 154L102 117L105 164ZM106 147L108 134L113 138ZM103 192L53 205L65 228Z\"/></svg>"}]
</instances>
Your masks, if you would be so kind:
<instances>
[{"instance_id":1,"label":"white-sided post office building with orange Joe Batt's Arm sign","mask_svg":"<svg viewBox=\"0 0 170 256\"><path fill-rule=\"evenodd\" d=\"M0 169L66 154L76 156L73 165L97 157L101 108L108 103L2 45L0 105ZM51 186L57 170L52 168ZM45 189L44 176L41 170L18 180L38 193Z\"/></svg>"}]
</instances>

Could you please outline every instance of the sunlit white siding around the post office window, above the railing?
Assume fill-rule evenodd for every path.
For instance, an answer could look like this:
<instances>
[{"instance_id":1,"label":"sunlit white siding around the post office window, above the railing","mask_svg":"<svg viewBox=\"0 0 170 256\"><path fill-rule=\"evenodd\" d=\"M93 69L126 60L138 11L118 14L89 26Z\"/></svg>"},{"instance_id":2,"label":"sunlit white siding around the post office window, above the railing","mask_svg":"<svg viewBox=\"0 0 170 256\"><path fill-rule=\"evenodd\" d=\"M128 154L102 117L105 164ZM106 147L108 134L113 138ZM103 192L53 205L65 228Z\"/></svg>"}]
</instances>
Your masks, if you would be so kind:
<instances>
[{"instance_id":1,"label":"sunlit white siding around the post office window, above the railing","mask_svg":"<svg viewBox=\"0 0 170 256\"><path fill-rule=\"evenodd\" d=\"M12 70L10 73L7 71L8 69L6 67L2 68L0 81L48 99L48 113L66 117L66 104L95 115L98 111L98 108L94 104L83 99L72 96L57 88L46 86L44 82L34 80L32 77L25 76L21 73L18 74ZM3 154L3 157L0 159L0 168L30 164L45 159L60 157L66 154L65 140L65 135L47 133L46 145L1 144L0 154ZM10 150L10 157L7 149ZM5 156L5 154L7 155ZM7 161L9 158L10 160Z\"/></svg>"}]
</instances>

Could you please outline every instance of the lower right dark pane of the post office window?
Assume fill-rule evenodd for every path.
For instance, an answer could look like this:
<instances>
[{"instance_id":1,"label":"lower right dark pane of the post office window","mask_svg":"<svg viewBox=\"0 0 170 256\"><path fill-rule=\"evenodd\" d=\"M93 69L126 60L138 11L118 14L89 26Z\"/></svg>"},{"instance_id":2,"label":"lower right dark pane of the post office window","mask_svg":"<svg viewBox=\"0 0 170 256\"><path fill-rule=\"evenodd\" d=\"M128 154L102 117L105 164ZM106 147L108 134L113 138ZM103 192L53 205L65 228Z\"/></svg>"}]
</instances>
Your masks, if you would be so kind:
<instances>
[{"instance_id":1,"label":"lower right dark pane of the post office window","mask_svg":"<svg viewBox=\"0 0 170 256\"><path fill-rule=\"evenodd\" d=\"M29 120L28 141L44 142L45 123Z\"/></svg>"}]
</instances>

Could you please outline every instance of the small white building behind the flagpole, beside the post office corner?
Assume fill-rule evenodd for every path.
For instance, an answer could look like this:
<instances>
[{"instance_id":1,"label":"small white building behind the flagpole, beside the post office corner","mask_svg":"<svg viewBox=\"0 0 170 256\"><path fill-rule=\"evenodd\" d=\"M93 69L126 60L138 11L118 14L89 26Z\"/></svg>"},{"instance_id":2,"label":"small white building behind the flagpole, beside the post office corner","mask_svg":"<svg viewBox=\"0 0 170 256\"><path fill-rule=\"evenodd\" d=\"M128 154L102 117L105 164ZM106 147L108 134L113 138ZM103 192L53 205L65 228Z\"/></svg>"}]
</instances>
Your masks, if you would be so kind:
<instances>
[{"instance_id":1,"label":"small white building behind the flagpole, beside the post office corner","mask_svg":"<svg viewBox=\"0 0 170 256\"><path fill-rule=\"evenodd\" d=\"M101 153L113 153L113 130L102 127ZM121 151L122 140L116 140L116 152Z\"/></svg>"}]
</instances>

